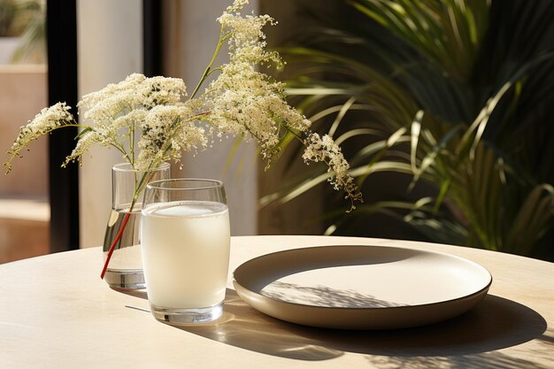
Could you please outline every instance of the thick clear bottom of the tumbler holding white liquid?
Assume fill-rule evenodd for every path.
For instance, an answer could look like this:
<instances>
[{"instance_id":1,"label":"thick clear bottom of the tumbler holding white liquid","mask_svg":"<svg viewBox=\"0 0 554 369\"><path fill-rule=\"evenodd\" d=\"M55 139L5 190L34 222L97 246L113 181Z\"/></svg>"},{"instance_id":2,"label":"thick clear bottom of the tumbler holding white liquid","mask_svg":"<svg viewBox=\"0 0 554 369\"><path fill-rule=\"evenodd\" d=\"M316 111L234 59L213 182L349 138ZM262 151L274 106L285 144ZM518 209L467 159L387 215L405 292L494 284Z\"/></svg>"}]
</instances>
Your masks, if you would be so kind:
<instances>
[{"instance_id":1,"label":"thick clear bottom of the tumbler holding white liquid","mask_svg":"<svg viewBox=\"0 0 554 369\"><path fill-rule=\"evenodd\" d=\"M198 309L164 308L150 304L154 318L172 325L207 323L219 319L223 314L223 303Z\"/></svg>"}]
</instances>

